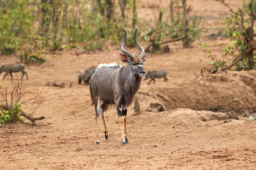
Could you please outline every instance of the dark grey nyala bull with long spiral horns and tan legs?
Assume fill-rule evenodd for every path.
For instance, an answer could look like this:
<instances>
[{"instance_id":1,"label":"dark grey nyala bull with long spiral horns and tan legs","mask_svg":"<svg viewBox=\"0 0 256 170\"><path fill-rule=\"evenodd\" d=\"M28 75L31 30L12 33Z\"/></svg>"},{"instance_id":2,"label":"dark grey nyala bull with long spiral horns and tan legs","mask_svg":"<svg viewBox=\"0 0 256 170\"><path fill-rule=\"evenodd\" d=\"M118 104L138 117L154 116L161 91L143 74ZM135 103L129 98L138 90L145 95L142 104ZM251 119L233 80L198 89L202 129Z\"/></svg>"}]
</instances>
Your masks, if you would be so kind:
<instances>
[{"instance_id":1,"label":"dark grey nyala bull with long spiral horns and tan legs","mask_svg":"<svg viewBox=\"0 0 256 170\"><path fill-rule=\"evenodd\" d=\"M123 28L124 29L124 28ZM116 105L116 111L121 124L122 145L129 143L126 131L127 107L132 103L134 94L138 91L141 83L141 76L145 75L143 62L148 57L145 50L137 41L137 28L134 33L134 40L140 50L140 55L134 57L132 53L124 49L126 41L126 31L124 29L124 40L121 45L120 59L126 62L127 66L122 67L119 64L100 64L91 77L90 94L92 103L95 105L96 122L96 144L99 145L98 122L99 114L102 117L105 139L108 139L108 128L104 117L104 111L108 110L110 104ZM100 105L100 102L102 103Z\"/></svg>"}]
</instances>

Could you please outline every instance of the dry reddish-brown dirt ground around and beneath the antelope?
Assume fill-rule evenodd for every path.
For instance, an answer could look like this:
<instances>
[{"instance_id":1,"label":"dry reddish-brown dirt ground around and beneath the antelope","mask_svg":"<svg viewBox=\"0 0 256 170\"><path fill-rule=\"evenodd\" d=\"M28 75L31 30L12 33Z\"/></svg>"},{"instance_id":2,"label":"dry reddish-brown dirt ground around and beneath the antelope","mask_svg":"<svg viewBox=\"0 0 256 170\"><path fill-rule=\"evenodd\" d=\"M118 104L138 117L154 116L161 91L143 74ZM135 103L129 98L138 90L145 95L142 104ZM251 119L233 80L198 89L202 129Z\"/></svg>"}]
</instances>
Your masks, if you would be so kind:
<instances>
[{"instance_id":1,"label":"dry reddish-brown dirt ground around and beneath the antelope","mask_svg":"<svg viewBox=\"0 0 256 170\"><path fill-rule=\"evenodd\" d=\"M140 5L145 2L140 1ZM168 4L163 0L161 3ZM214 1L189 3L209 18L207 22L228 15L227 8ZM239 0L230 4L242 6ZM150 10L155 12L154 5L145 3L141 8L145 16ZM255 169L256 121L246 117L256 112L256 72L198 76L210 62L197 45L201 41L211 43L218 55L223 46L214 44L228 43L227 39L209 40L205 36L193 48L172 43L172 52L150 55L145 69L166 69L169 81L141 83L141 113L133 116L133 104L128 109L130 143L125 146L121 143L115 107L105 114L108 141L100 120L100 145L95 145L95 111L89 87L77 84L76 73L99 63L122 64L118 46L78 56L76 50L58 52L55 57L47 55L49 60L41 66L26 66L29 80L24 80L24 100L35 96L36 89L44 89L34 116L45 119L35 126L28 121L1 125L0 169ZM13 59L3 56L0 63L9 64ZM17 76L20 78L20 73ZM64 82L65 88L45 86L51 80ZM0 83L12 87L10 76ZM25 104L23 110L29 111L33 106Z\"/></svg>"}]
</instances>

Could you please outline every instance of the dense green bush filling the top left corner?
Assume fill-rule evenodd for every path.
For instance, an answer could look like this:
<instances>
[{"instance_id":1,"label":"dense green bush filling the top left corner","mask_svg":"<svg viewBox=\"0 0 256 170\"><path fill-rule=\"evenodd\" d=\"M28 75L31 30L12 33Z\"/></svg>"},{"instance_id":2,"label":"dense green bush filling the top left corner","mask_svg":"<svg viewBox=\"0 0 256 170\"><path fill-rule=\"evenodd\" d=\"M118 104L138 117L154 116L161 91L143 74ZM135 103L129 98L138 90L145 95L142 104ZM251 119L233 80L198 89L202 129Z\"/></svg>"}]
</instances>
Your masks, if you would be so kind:
<instances>
[{"instance_id":1,"label":"dense green bush filling the top left corner","mask_svg":"<svg viewBox=\"0 0 256 170\"><path fill-rule=\"evenodd\" d=\"M30 36L33 18L26 8L26 0L2 2L0 8L0 53L17 52Z\"/></svg>"}]
</instances>

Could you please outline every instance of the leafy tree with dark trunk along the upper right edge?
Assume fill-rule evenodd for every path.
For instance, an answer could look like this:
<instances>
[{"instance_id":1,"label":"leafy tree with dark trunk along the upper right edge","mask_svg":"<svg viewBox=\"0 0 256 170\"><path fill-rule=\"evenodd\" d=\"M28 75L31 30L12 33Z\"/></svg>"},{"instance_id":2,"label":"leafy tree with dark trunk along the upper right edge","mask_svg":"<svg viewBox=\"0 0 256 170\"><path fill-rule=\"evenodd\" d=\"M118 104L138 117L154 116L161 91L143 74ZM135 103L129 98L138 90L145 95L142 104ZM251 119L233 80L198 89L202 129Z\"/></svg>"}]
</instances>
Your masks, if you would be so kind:
<instances>
[{"instance_id":1,"label":"leafy tree with dark trunk along the upper right edge","mask_svg":"<svg viewBox=\"0 0 256 170\"><path fill-rule=\"evenodd\" d=\"M253 23L256 18L256 2L251 0L250 3L244 4L244 8L233 10L225 3L225 0L220 1L224 6L232 12L230 17L225 18L226 29L225 36L230 36L230 44L224 48L224 56L230 55L234 57L232 64L228 65L224 60L212 62L214 72L225 71L226 69L235 70L250 70L256 69L255 53L256 49L254 39Z\"/></svg>"}]
</instances>

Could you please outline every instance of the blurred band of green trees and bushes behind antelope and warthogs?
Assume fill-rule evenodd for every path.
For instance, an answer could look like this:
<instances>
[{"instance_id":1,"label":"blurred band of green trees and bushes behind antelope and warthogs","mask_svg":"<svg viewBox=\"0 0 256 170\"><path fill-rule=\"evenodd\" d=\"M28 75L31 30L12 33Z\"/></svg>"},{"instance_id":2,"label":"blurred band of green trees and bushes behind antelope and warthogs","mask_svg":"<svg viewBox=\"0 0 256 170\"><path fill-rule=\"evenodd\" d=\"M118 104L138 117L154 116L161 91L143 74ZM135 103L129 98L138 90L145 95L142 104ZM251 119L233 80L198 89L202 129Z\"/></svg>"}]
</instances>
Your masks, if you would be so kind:
<instances>
[{"instance_id":1,"label":"blurred band of green trees and bushes behind antelope and warthogs","mask_svg":"<svg viewBox=\"0 0 256 170\"><path fill-rule=\"evenodd\" d=\"M138 40L147 41L148 52L162 50L164 40L172 38L190 47L200 36L200 18L189 17L191 8L184 7L184 2L170 1L171 14L166 18L163 13L168 11L158 6L159 20L152 27L137 15L136 0L2 0L0 53L42 64L45 51L77 46L85 51L102 50L109 43L119 44L123 26L129 35L127 45L134 46L136 25Z\"/></svg>"}]
</instances>

